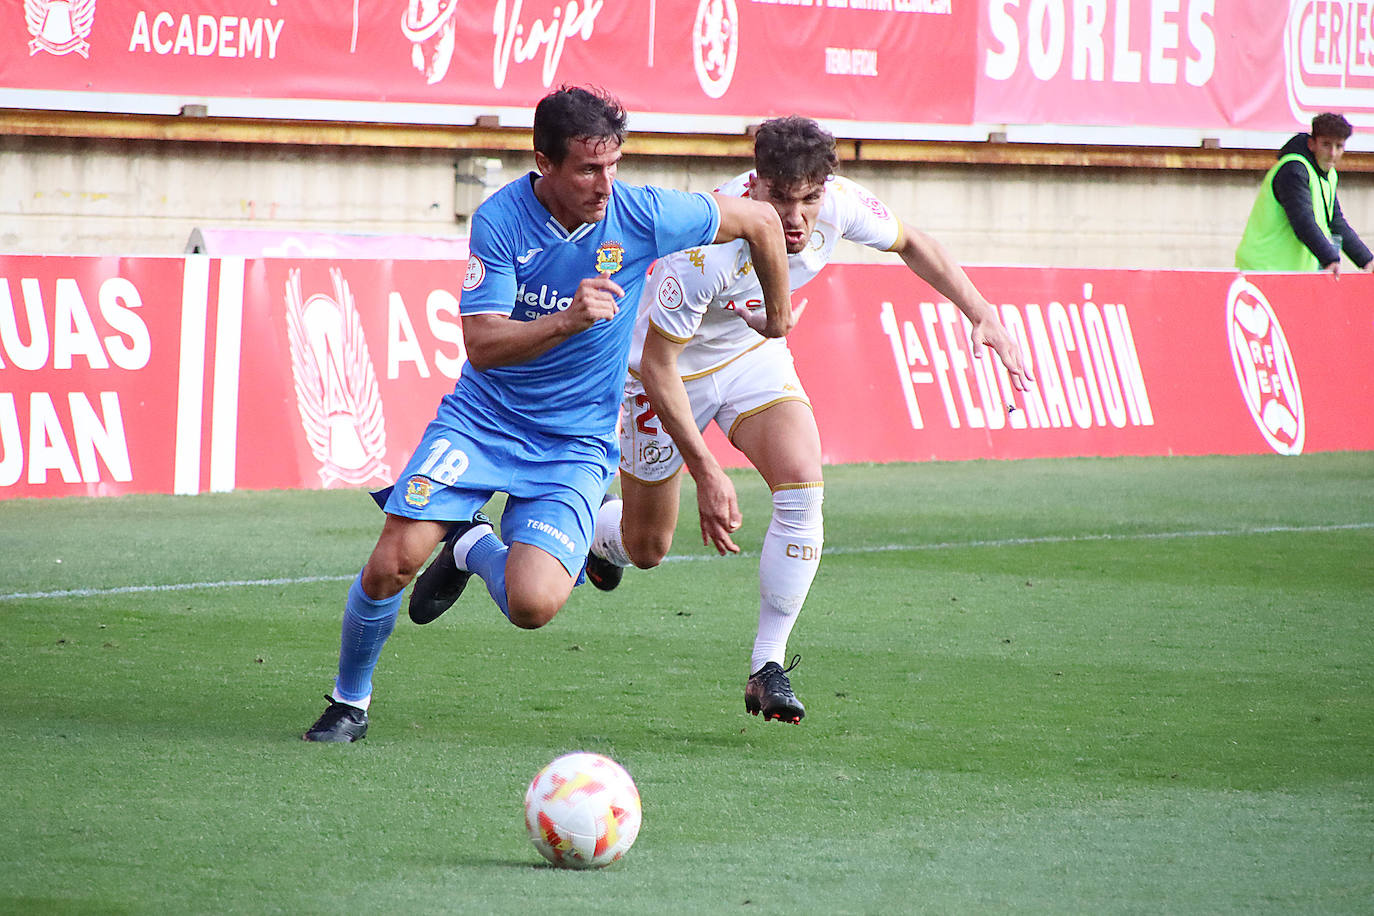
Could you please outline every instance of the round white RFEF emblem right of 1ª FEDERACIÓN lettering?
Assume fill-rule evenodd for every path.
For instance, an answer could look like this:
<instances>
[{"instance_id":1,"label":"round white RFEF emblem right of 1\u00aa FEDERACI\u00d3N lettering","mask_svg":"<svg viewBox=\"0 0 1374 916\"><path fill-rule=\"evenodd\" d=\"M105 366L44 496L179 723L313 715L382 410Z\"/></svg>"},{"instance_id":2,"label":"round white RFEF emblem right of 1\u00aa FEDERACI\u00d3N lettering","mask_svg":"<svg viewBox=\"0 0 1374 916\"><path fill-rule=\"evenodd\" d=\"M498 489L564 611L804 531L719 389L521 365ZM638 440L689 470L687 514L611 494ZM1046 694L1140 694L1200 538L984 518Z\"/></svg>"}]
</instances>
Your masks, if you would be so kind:
<instances>
[{"instance_id":1,"label":"round white RFEF emblem right of 1\u00aa FEDERACI\u00d3N lettering","mask_svg":"<svg viewBox=\"0 0 1374 916\"><path fill-rule=\"evenodd\" d=\"M1307 424L1293 352L1268 299L1243 276L1226 297L1226 332L1235 380L1254 426L1279 455L1301 455Z\"/></svg>"}]
</instances>

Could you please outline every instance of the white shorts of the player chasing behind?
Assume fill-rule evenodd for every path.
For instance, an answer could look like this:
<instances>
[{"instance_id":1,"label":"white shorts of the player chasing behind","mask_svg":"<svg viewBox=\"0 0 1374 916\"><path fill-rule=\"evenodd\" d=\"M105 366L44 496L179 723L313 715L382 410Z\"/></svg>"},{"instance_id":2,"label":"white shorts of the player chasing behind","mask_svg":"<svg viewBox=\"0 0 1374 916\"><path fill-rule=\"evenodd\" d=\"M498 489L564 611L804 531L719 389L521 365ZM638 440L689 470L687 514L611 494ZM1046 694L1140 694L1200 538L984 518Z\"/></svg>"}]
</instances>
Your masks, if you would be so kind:
<instances>
[{"instance_id":1,"label":"white shorts of the player chasing behind","mask_svg":"<svg viewBox=\"0 0 1374 916\"><path fill-rule=\"evenodd\" d=\"M797 378L791 352L780 341L754 347L719 369L683 383L697 428L705 430L714 420L728 439L734 439L741 420L774 404L801 401L811 407L811 398ZM625 398L620 402L620 472L643 483L662 483L682 466L682 455L658 422L643 383L629 376Z\"/></svg>"}]
</instances>

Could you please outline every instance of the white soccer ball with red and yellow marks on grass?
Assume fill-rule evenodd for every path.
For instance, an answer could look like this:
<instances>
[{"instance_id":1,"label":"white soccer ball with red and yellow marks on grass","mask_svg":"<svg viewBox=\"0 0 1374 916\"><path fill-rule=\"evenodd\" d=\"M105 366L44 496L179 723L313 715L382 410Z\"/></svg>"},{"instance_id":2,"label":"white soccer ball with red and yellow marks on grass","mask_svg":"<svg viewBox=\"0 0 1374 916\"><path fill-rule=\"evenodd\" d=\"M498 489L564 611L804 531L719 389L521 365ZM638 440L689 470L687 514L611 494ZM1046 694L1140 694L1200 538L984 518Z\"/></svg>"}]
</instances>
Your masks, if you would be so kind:
<instances>
[{"instance_id":1,"label":"white soccer ball with red and yellow marks on grass","mask_svg":"<svg viewBox=\"0 0 1374 916\"><path fill-rule=\"evenodd\" d=\"M639 790L625 768L600 754L563 754L525 790L525 828L559 868L602 868L639 835Z\"/></svg>"}]
</instances>

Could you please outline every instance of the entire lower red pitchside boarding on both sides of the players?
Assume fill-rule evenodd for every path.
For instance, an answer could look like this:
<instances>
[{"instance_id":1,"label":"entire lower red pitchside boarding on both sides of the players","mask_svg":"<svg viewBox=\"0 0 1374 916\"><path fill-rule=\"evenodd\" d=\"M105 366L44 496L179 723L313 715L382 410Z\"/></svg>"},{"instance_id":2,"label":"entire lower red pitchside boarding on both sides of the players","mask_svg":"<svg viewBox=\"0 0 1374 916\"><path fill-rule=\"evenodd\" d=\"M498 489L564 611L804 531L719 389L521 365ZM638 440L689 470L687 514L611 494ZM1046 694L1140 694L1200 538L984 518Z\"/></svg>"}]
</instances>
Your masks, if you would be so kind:
<instances>
[{"instance_id":1,"label":"entire lower red pitchside boarding on both sides of the players","mask_svg":"<svg viewBox=\"0 0 1374 916\"><path fill-rule=\"evenodd\" d=\"M390 483L464 361L462 268L0 257L0 499ZM901 265L797 294L827 461L1374 449L1347 356L1374 349L1374 276L970 276L1030 391Z\"/></svg>"}]
</instances>

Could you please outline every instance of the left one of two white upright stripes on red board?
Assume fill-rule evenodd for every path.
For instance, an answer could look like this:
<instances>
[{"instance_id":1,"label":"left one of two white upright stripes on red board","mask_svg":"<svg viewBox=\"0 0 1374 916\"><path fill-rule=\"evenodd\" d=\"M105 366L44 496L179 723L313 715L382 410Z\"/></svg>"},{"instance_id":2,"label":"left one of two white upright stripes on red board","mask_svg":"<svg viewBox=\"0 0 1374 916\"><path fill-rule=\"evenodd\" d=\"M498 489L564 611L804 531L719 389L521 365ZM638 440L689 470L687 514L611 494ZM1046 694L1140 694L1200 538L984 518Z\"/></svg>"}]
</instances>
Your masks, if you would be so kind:
<instances>
[{"instance_id":1,"label":"left one of two white upright stripes on red board","mask_svg":"<svg viewBox=\"0 0 1374 916\"><path fill-rule=\"evenodd\" d=\"M176 390L176 464L172 492L201 492L201 424L205 412L205 324L210 297L210 258L192 254L181 275L181 356Z\"/></svg>"}]
</instances>

